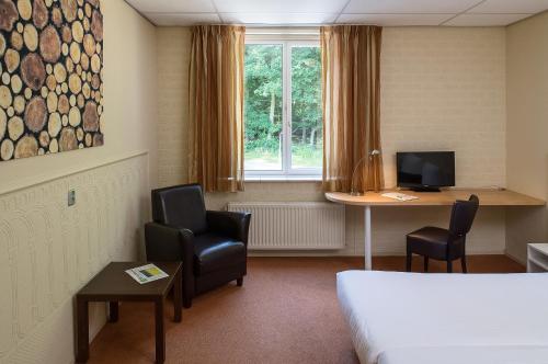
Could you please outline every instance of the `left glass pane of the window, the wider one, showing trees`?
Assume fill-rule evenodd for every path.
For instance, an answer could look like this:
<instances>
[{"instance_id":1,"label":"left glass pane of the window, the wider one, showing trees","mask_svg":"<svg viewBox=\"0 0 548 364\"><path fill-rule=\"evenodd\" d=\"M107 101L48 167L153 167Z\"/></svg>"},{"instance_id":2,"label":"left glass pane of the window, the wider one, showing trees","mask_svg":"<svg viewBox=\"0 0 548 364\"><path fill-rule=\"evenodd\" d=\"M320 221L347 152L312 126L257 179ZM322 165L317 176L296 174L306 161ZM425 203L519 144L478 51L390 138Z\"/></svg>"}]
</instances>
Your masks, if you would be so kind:
<instances>
[{"instance_id":1,"label":"left glass pane of the window, the wider one, showing trees","mask_svg":"<svg viewBox=\"0 0 548 364\"><path fill-rule=\"evenodd\" d=\"M246 45L246 170L282 170L283 46Z\"/></svg>"}]
</instances>

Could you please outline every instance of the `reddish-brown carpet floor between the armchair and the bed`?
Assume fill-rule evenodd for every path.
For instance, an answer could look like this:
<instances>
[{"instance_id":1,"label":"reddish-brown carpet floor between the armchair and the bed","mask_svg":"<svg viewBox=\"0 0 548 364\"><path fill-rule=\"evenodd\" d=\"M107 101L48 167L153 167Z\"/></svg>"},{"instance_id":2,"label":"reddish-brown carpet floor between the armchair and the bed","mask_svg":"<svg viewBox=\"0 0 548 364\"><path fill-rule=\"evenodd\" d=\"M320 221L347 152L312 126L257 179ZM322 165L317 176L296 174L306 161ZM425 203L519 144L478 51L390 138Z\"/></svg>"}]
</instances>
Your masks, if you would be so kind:
<instances>
[{"instance_id":1,"label":"reddish-brown carpet floor between the armchair and the bed","mask_svg":"<svg viewBox=\"0 0 548 364\"><path fill-rule=\"evenodd\" d=\"M455 264L459 265L459 264ZM399 271L403 258L374 259ZM523 272L503 255L469 257L470 273ZM363 268L358 258L251 258L243 287L197 297L183 322L165 311L167 363L357 363L339 309L335 273ZM422 268L415 260L413 269ZM445 265L431 262L432 272ZM456 271L459 270L456 268ZM89 363L153 363L153 307L125 303L91 345Z\"/></svg>"}]
</instances>

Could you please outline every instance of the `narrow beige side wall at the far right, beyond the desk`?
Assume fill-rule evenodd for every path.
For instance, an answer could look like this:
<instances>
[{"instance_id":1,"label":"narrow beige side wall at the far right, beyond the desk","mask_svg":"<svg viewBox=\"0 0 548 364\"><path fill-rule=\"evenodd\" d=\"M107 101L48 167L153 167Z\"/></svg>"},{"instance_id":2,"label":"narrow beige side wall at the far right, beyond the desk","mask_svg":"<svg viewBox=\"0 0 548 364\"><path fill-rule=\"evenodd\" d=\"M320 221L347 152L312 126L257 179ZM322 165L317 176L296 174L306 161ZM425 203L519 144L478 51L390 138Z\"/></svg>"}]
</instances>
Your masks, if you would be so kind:
<instances>
[{"instance_id":1,"label":"narrow beige side wall at the far right, beyond the desk","mask_svg":"<svg viewBox=\"0 0 548 364\"><path fill-rule=\"evenodd\" d=\"M507 185L548 200L548 12L507 29ZM526 259L527 242L548 242L546 208L512 209L507 253Z\"/></svg>"}]
</instances>

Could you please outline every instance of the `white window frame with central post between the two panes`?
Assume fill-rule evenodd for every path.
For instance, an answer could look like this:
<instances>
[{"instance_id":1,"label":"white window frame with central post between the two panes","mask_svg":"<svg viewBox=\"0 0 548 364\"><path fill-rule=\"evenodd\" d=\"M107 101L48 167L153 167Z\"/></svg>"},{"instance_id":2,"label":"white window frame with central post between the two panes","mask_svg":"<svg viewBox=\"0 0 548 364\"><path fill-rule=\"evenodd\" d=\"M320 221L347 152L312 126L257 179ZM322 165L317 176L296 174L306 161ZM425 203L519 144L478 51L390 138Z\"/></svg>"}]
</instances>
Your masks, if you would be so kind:
<instances>
[{"instance_id":1,"label":"white window frame with central post between the two panes","mask_svg":"<svg viewBox=\"0 0 548 364\"><path fill-rule=\"evenodd\" d=\"M281 170L244 170L247 180L256 179L310 179L318 180L323 168L293 168L292 161L292 52L293 47L320 47L320 36L317 30L305 30L297 33L286 33L279 30L252 30L246 34L246 45L265 44L282 46L282 169ZM246 120L244 120L246 121Z\"/></svg>"}]
</instances>

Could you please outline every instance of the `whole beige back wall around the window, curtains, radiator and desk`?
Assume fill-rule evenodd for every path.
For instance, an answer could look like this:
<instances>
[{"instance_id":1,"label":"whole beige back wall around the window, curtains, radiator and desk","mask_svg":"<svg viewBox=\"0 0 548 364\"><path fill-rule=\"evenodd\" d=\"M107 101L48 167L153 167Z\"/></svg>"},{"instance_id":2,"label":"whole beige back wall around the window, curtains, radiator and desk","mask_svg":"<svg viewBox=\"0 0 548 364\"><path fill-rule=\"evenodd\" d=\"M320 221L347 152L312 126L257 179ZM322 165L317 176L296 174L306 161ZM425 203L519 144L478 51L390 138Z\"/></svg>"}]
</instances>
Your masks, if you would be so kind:
<instances>
[{"instance_id":1,"label":"whole beige back wall around the window, curtains, radiator and desk","mask_svg":"<svg viewBox=\"0 0 548 364\"><path fill-rule=\"evenodd\" d=\"M158 29L161 186L186 182L190 44L189 29ZM433 149L456 150L458 186L504 186L504 29L385 27L381 58L387 187L396 184L397 150ZM246 192L206 196L209 208L246 201L324 198L318 182L248 182ZM374 253L402 254L407 232L424 225L446 226L448 216L448 208L374 208ZM502 253L504 227L503 209L482 208L469 237L469 252ZM315 253L363 254L362 208L347 208L346 231L345 249Z\"/></svg>"}]
</instances>

